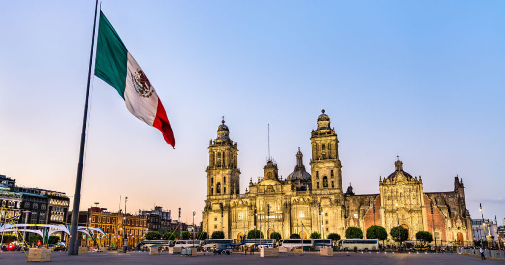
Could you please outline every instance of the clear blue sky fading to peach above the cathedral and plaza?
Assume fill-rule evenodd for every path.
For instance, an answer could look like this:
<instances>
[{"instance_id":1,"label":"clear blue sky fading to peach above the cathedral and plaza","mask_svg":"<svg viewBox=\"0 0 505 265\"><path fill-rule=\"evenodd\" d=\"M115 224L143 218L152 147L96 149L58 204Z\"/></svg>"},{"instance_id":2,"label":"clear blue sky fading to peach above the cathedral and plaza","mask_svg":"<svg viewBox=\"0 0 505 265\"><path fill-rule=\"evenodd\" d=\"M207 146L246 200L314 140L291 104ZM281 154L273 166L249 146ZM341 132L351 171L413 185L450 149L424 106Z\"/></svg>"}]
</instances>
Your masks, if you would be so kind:
<instances>
[{"instance_id":1,"label":"clear blue sky fading to peach above the cathedral and plaza","mask_svg":"<svg viewBox=\"0 0 505 265\"><path fill-rule=\"evenodd\" d=\"M94 1L3 3L0 174L73 195ZM221 116L240 191L271 152L286 177L321 109L340 140L344 189L378 193L403 169L424 190L457 174L473 218L505 216L502 1L112 1L102 10L142 66L176 149L93 78L81 208L203 210ZM174 214L173 216L176 216ZM201 215L197 215L198 221ZM499 222L500 223L500 222Z\"/></svg>"}]
</instances>

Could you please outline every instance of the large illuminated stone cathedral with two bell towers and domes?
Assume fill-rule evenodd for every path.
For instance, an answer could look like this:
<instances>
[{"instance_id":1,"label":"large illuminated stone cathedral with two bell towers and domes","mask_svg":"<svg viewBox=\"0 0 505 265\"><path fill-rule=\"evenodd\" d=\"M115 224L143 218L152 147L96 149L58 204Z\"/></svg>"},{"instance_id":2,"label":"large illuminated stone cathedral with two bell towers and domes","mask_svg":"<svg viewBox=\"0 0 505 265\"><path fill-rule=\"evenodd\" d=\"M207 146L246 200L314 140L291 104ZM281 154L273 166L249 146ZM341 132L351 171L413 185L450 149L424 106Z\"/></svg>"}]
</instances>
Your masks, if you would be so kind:
<instances>
[{"instance_id":1,"label":"large illuminated stone cathedral with two bell towers and domes","mask_svg":"<svg viewBox=\"0 0 505 265\"><path fill-rule=\"evenodd\" d=\"M224 123L223 119L217 138L209 143L203 212L203 230L209 235L223 231L225 238L239 238L258 229L265 236L278 232L282 238L293 233L307 238L312 232L325 238L338 233L344 238L346 228L359 227L366 237L367 228L378 225L388 233L393 227L406 228L409 240L415 240L418 231L429 231L437 242L448 245L469 245L473 240L459 177L455 177L454 191L424 192L421 176L403 171L397 159L394 171L379 177L379 194L355 194L350 185L344 192L338 137L324 110L311 132L310 173L298 148L294 171L286 179L279 178L277 164L268 160L263 177L258 182L250 179L240 194L237 143Z\"/></svg>"}]
</instances>

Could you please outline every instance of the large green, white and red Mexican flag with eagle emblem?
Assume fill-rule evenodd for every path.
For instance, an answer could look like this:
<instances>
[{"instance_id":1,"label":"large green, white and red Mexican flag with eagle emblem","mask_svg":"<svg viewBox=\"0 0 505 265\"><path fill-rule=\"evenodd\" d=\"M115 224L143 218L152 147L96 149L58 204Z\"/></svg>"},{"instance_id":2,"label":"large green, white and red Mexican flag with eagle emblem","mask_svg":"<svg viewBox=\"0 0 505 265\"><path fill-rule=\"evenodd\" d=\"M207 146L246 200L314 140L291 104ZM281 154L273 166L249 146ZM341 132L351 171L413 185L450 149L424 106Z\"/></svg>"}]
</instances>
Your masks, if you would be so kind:
<instances>
[{"instance_id":1,"label":"large green, white and red Mexican flag with eagle emblem","mask_svg":"<svg viewBox=\"0 0 505 265\"><path fill-rule=\"evenodd\" d=\"M131 114L158 128L165 141L175 146L174 133L158 94L102 11L94 74L118 91Z\"/></svg>"}]
</instances>

